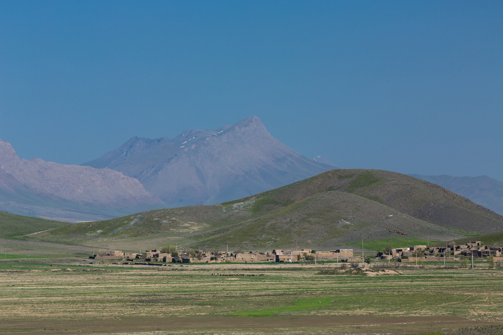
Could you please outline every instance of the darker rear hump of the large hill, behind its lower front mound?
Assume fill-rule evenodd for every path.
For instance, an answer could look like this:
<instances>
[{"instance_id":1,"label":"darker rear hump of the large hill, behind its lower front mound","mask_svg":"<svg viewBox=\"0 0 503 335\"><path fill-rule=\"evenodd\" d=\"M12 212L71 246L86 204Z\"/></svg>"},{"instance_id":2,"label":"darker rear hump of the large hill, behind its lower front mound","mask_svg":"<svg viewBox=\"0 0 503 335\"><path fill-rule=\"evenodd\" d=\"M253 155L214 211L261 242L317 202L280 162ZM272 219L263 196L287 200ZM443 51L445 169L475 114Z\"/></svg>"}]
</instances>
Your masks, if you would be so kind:
<instances>
[{"instance_id":1,"label":"darker rear hump of the large hill, behind its lower front mound","mask_svg":"<svg viewBox=\"0 0 503 335\"><path fill-rule=\"evenodd\" d=\"M257 206L290 204L331 190L356 194L444 227L483 233L503 230L503 216L438 185L384 170L331 170L237 201L257 198Z\"/></svg>"}]
</instances>

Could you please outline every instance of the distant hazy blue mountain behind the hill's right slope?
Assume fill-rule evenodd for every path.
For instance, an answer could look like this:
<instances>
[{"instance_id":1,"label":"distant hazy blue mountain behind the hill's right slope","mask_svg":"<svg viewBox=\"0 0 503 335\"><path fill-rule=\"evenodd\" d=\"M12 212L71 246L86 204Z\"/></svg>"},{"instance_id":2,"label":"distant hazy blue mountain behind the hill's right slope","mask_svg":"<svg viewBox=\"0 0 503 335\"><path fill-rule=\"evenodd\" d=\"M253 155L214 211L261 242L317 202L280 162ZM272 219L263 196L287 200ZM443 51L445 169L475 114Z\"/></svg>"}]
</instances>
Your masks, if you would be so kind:
<instances>
[{"instance_id":1,"label":"distant hazy blue mountain behind the hill's right slope","mask_svg":"<svg viewBox=\"0 0 503 335\"><path fill-rule=\"evenodd\" d=\"M410 174L410 176L440 185L503 215L503 182L499 180L488 176L452 177L446 174L440 176Z\"/></svg>"}]
</instances>

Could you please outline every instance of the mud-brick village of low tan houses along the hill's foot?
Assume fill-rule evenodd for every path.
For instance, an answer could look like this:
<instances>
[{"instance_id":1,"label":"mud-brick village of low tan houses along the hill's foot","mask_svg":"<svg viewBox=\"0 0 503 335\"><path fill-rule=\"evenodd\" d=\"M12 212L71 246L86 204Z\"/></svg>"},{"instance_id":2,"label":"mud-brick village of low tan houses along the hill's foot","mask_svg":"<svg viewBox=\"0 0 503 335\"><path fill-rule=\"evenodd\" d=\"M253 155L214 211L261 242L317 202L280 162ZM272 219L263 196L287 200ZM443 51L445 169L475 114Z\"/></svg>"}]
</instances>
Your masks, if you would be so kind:
<instances>
[{"instance_id":1,"label":"mud-brick village of low tan houses along the hill's foot","mask_svg":"<svg viewBox=\"0 0 503 335\"><path fill-rule=\"evenodd\" d=\"M372 261L393 260L397 262L453 262L459 261L460 257L482 258L491 257L494 261L503 261L501 247L488 247L482 245L480 241L466 243L464 245L446 245L446 247L411 246L408 248L395 248L378 252L377 255L367 255L367 259ZM374 255L374 254L372 254ZM268 252L229 253L213 251L203 252L200 250L177 250L175 247L164 247L162 249L145 250L141 253L131 253L122 251L109 251L101 255L93 255L89 258L122 259L124 261L143 262L163 262L163 263L254 263L254 262L276 262L276 263L298 263L298 262L363 262L365 254L355 255L353 249L336 249L331 251L316 251L312 249L302 250L278 250ZM141 264L141 263L138 263ZM145 263L147 264L147 263Z\"/></svg>"}]
</instances>

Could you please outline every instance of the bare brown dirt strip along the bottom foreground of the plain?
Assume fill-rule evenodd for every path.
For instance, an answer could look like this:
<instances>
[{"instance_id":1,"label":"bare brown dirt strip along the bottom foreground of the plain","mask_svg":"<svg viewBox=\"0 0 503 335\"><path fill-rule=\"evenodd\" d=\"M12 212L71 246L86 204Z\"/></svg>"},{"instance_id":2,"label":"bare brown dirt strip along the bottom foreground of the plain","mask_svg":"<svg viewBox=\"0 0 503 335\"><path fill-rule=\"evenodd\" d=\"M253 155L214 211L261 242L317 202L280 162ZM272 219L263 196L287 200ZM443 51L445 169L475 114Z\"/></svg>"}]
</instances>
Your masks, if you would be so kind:
<instances>
[{"instance_id":1,"label":"bare brown dirt strip along the bottom foreground of the plain","mask_svg":"<svg viewBox=\"0 0 503 335\"><path fill-rule=\"evenodd\" d=\"M90 334L155 333L163 334L409 334L432 332L442 328L459 328L498 324L472 321L462 317L378 317L372 315L277 316L277 317L141 317L125 319L91 319L60 321L2 321L0 334ZM44 329L45 328L45 329ZM446 329L447 330L447 329Z\"/></svg>"}]
</instances>

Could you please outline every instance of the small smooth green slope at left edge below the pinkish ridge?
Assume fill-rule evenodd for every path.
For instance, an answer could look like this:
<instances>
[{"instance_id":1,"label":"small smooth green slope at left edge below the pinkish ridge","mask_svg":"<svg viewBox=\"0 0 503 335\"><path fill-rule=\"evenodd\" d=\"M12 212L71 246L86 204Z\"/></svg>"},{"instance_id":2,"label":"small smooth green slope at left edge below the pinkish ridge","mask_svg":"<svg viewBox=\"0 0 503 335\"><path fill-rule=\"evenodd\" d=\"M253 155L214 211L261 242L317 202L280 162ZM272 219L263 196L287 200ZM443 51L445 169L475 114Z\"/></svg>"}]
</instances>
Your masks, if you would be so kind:
<instances>
[{"instance_id":1,"label":"small smooth green slope at left edge below the pinkish ridge","mask_svg":"<svg viewBox=\"0 0 503 335\"><path fill-rule=\"evenodd\" d=\"M32 234L68 225L68 222L11 214L0 211L0 237Z\"/></svg>"}]
</instances>

